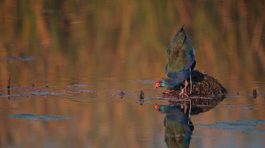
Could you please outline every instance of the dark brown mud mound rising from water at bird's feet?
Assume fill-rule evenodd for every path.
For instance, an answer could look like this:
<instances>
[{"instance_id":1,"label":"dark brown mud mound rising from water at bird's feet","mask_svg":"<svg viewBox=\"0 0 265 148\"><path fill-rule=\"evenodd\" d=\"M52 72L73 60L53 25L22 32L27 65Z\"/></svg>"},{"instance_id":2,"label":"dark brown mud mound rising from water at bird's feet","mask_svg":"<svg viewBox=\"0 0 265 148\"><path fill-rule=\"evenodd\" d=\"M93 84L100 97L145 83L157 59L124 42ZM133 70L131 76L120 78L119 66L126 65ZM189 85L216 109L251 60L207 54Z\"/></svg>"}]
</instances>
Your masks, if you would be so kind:
<instances>
[{"instance_id":1,"label":"dark brown mud mound rising from water at bird's feet","mask_svg":"<svg viewBox=\"0 0 265 148\"><path fill-rule=\"evenodd\" d=\"M186 88L187 95L224 95L228 94L227 90L213 77L208 76L199 72L198 70L191 71L191 82L192 90L190 94L190 79L187 79L188 86ZM177 96L181 92L181 89L184 87L185 80L174 87L171 95ZM164 95L168 95L163 93Z\"/></svg>"}]
</instances>

